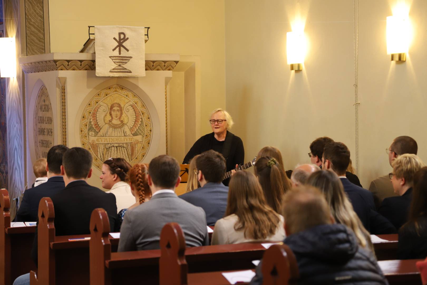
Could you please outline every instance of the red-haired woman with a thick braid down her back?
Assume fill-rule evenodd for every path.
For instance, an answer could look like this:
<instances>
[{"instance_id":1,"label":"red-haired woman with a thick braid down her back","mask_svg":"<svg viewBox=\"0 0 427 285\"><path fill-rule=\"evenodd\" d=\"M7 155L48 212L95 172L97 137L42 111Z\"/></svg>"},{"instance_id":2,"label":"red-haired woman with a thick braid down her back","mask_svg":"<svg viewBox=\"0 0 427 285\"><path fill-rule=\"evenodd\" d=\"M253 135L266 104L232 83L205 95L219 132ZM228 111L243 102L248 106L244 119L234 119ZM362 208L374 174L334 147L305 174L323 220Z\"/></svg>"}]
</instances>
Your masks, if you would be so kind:
<instances>
[{"instance_id":1,"label":"red-haired woman with a thick braid down her back","mask_svg":"<svg viewBox=\"0 0 427 285\"><path fill-rule=\"evenodd\" d=\"M125 217L127 210L134 209L140 204L151 199L151 190L147 181L148 165L145 163L136 164L128 172L128 182L131 187L132 195L135 197L135 203L127 209L122 209L118 216L117 232L120 232L120 227Z\"/></svg>"}]
</instances>

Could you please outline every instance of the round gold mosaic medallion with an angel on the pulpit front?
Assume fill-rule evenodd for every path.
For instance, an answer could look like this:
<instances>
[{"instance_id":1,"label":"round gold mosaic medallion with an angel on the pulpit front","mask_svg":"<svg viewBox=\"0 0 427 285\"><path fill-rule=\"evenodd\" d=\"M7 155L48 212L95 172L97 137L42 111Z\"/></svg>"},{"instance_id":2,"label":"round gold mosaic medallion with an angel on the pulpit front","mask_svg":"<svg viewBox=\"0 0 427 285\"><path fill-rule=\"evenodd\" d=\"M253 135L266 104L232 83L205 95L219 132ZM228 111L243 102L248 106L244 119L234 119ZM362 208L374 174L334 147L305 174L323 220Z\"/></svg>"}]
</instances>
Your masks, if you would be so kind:
<instances>
[{"instance_id":1,"label":"round gold mosaic medallion with an angel on the pulpit front","mask_svg":"<svg viewBox=\"0 0 427 285\"><path fill-rule=\"evenodd\" d=\"M86 105L80 121L82 147L91 151L101 170L110 157L131 165L142 161L152 138L148 108L131 90L114 84L99 91Z\"/></svg>"}]
</instances>

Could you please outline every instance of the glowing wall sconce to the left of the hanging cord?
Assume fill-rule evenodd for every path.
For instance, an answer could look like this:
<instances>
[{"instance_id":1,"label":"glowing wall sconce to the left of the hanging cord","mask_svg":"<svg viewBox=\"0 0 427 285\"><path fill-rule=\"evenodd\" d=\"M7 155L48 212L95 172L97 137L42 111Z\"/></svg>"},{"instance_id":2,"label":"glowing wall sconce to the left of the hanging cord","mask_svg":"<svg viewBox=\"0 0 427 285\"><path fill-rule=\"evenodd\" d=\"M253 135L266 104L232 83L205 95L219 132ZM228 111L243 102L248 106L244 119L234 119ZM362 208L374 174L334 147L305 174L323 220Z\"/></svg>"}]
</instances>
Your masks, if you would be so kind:
<instances>
[{"instance_id":1,"label":"glowing wall sconce to the left of the hanging cord","mask_svg":"<svg viewBox=\"0 0 427 285\"><path fill-rule=\"evenodd\" d=\"M291 70L302 70L306 50L304 31L286 33L286 50Z\"/></svg>"}]
</instances>

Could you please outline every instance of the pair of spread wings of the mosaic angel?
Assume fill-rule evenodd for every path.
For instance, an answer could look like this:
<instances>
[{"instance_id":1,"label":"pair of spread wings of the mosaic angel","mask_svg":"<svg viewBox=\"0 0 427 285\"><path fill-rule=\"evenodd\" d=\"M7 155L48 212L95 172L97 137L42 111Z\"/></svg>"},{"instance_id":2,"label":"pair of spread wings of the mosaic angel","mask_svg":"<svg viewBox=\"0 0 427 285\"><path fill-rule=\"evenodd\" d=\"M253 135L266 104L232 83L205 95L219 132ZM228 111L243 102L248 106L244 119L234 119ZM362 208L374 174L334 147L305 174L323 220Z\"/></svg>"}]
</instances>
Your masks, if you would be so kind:
<instances>
[{"instance_id":1,"label":"pair of spread wings of the mosaic angel","mask_svg":"<svg viewBox=\"0 0 427 285\"><path fill-rule=\"evenodd\" d=\"M98 133L102 126L105 125L105 115L108 114L109 108L107 104L103 102L99 102L97 106L95 106L94 111L91 114L91 125L94 127L95 131ZM126 103L123 107L123 112L128 116L129 120L127 125L131 130L131 133L134 134L137 129L139 129L142 123L142 114L132 101Z\"/></svg>"}]
</instances>

